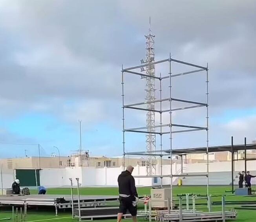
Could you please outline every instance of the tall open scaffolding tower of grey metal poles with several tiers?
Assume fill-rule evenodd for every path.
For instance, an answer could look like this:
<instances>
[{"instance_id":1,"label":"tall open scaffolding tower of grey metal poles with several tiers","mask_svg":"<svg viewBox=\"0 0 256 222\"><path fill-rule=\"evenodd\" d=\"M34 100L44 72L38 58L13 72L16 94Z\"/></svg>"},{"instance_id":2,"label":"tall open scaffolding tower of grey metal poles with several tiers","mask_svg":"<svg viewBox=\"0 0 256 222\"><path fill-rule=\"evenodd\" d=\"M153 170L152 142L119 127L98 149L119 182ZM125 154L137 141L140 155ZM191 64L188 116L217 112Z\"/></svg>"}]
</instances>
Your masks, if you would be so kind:
<instances>
[{"instance_id":1,"label":"tall open scaffolding tower of grey metal poles with several tiers","mask_svg":"<svg viewBox=\"0 0 256 222\"><path fill-rule=\"evenodd\" d=\"M152 39L152 37L150 37ZM154 39L154 38L153 38ZM180 177L182 175L180 174L176 174L173 173L172 170L172 165L173 165L173 154L172 154L172 150L173 150L173 145L172 145L172 135L173 134L177 134L177 133L185 133L185 132L193 132L193 131L199 131L199 130L204 130L206 132L206 150L205 153L207 153L207 169L206 169L206 173L202 173L202 174L186 174L186 177L192 176L192 177L207 177L207 196L209 195L208 192L208 186L209 186L209 178L208 178L208 172L209 172L209 159L208 159L208 145L209 145L209 134L208 134L208 64L206 67L200 66L200 65L195 65L192 63L188 63L185 61L181 61L181 60L176 60L174 58L171 57L171 54L169 56L169 58L166 58L164 60L159 60L159 61L154 61L153 59L151 59L152 61L146 61L145 63L142 63L141 65L137 65L134 67L128 67L128 68L124 68L122 65L122 97L123 97L123 166L125 169L125 155L141 155L141 156L150 156L151 159L156 159L156 157L160 158L160 175L155 174L150 174L150 175L139 175L139 176L135 176L135 177L157 177L161 179L161 187L163 186L163 178L164 177L168 177L170 178L170 189L171 189L171 208L172 208L172 200L173 200L173 195L172 195L172 186L173 186L173 178L174 177ZM168 75L165 75L162 77L162 75L160 74L159 76L156 76L155 74L152 75L151 72L146 72L146 74L142 73L144 71L144 68L146 68L146 70L153 68L155 69L156 65L161 65L163 63L169 63L168 65ZM188 67L193 67L196 68L194 70L190 70L187 72L180 72L180 73L174 73L172 74L172 64L173 63L179 63L179 64L183 64L185 66ZM172 96L172 78L182 78L185 75L190 75L190 74L195 74L197 72L203 72L205 73L205 83L206 83L206 93L205 93L205 97L206 97L206 102L205 103L201 103L198 101L189 101L186 99L179 99L179 98L175 98ZM153 80L153 82L155 80L160 82L160 98L155 98L154 99L147 99L146 101L140 102L140 103L133 103L133 104L125 104L124 103L124 74L133 74L133 75L137 75L140 76L142 78L146 78L147 83L148 83L148 79ZM162 88L162 81L168 81L168 88ZM168 97L163 98L162 97L162 91L168 89ZM190 105L185 105L181 108L174 108L173 107L173 102L179 102L181 104L190 104ZM156 104L156 103L160 103L160 108L159 109L155 109L155 106L149 106L152 104ZM168 103L168 108L167 109L163 109L163 103ZM141 106L146 105L146 108L142 108ZM172 114L173 112L177 112L179 110L187 110L187 109L193 109L193 108L198 108L198 107L205 107L206 108L206 121L205 121L205 126L192 126L192 125L181 125L181 124L177 124L174 122ZM143 111L147 111L148 113L159 113L160 114L160 124L159 125L146 125L146 126L142 126L142 127L136 127L136 128L125 128L125 110L126 109L132 109L132 110L143 110ZM168 113L169 118L168 118L168 122L163 123L163 118L162 115L163 113ZM174 130L174 127L176 128L181 128L178 130ZM166 130L166 128L168 130ZM142 134L146 134L146 135L159 135L160 137L160 150L156 150L156 149L147 149L146 151L137 151L137 152L125 152L125 134L127 132L133 132L133 133L142 133ZM162 144L162 139L163 136L168 135L169 136L169 148L168 149L163 149L163 144ZM163 157L168 156L170 158L170 173L168 174L163 174ZM153 157L153 158L152 158Z\"/></svg>"}]
</instances>

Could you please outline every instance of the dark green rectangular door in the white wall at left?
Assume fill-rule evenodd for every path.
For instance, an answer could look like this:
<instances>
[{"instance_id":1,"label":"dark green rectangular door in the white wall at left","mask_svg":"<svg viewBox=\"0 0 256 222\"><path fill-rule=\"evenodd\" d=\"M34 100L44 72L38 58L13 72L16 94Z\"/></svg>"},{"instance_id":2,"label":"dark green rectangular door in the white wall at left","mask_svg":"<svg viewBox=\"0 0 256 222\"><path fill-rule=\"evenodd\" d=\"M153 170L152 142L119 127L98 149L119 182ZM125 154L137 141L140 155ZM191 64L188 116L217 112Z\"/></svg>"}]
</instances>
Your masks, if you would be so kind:
<instances>
[{"instance_id":1,"label":"dark green rectangular door in the white wall at left","mask_svg":"<svg viewBox=\"0 0 256 222\"><path fill-rule=\"evenodd\" d=\"M16 179L20 180L20 186L40 186L39 170L16 170Z\"/></svg>"}]
</instances>

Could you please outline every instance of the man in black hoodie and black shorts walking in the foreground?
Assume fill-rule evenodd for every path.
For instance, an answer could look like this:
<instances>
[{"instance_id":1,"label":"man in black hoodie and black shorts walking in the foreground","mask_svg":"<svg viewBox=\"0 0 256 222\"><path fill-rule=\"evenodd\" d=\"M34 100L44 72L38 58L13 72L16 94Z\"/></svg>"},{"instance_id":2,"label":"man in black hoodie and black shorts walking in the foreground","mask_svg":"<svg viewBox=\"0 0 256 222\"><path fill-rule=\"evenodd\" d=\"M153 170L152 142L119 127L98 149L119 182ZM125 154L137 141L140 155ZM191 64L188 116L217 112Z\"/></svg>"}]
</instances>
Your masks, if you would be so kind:
<instances>
[{"instance_id":1,"label":"man in black hoodie and black shorts walking in the foreground","mask_svg":"<svg viewBox=\"0 0 256 222\"><path fill-rule=\"evenodd\" d=\"M118 177L119 186L119 213L117 222L121 222L123 214L128 210L132 215L133 222L137 222L137 202L139 200L135 187L135 180L132 176L133 167L128 166Z\"/></svg>"}]
</instances>

